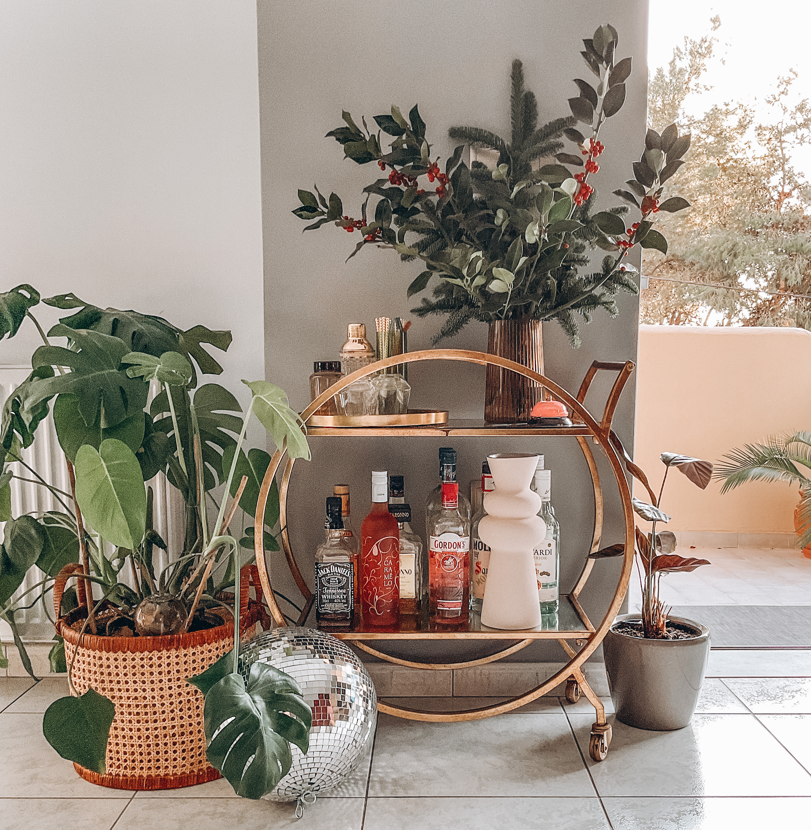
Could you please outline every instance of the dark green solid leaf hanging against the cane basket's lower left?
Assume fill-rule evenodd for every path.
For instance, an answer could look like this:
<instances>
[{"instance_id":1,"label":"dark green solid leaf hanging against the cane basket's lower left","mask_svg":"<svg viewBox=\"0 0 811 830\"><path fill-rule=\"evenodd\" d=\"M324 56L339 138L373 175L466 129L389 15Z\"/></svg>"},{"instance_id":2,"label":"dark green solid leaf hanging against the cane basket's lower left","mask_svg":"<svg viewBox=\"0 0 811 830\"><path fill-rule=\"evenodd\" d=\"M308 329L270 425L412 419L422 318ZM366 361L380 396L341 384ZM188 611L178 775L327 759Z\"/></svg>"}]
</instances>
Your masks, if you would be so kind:
<instances>
[{"instance_id":1,"label":"dark green solid leaf hanging against the cane basket's lower left","mask_svg":"<svg viewBox=\"0 0 811 830\"><path fill-rule=\"evenodd\" d=\"M62 758L104 773L113 718L113 701L90 686L81 697L61 697L51 703L42 718L42 734Z\"/></svg>"}]
</instances>

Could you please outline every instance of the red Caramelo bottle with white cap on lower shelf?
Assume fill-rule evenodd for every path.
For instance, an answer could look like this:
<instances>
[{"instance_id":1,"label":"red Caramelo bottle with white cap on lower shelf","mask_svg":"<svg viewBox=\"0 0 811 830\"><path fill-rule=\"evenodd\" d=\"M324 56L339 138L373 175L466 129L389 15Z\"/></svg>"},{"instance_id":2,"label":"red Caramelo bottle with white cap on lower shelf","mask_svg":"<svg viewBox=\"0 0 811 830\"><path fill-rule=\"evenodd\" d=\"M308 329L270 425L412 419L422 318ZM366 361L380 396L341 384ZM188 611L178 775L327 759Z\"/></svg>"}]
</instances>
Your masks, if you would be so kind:
<instances>
[{"instance_id":1,"label":"red Caramelo bottle with white cap on lower shelf","mask_svg":"<svg viewBox=\"0 0 811 830\"><path fill-rule=\"evenodd\" d=\"M372 473L372 510L360 526L360 608L364 623L396 626L400 603L400 531L388 512L388 472Z\"/></svg>"}]
</instances>

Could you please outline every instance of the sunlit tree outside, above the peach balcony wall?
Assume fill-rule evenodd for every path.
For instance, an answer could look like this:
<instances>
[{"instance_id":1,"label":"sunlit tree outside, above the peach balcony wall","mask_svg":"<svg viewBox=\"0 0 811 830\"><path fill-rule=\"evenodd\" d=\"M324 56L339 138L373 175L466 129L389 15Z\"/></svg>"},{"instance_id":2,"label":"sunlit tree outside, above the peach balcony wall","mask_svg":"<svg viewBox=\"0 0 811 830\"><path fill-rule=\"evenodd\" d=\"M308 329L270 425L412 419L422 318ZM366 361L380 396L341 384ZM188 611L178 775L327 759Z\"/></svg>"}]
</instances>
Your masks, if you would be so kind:
<instances>
[{"instance_id":1,"label":"sunlit tree outside, above the peach balcony wall","mask_svg":"<svg viewBox=\"0 0 811 830\"><path fill-rule=\"evenodd\" d=\"M740 101L703 115L703 76L718 54L721 19L699 39L686 37L666 67L652 71L648 126L673 122L692 134L674 194L688 215L662 217L667 255L644 251L642 323L788 325L811 329L811 186L794 151L811 142L811 103L798 74L775 78L755 113Z\"/></svg>"}]
</instances>

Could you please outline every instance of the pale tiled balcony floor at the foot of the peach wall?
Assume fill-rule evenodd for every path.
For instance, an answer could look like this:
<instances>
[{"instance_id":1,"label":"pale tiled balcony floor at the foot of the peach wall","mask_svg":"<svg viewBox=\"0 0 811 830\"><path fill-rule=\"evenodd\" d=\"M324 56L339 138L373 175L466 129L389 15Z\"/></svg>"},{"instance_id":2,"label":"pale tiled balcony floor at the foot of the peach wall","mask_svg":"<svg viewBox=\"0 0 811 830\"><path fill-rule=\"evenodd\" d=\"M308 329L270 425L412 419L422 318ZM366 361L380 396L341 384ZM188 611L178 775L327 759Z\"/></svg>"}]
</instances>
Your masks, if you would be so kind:
<instances>
[{"instance_id":1,"label":"pale tiled balcony floor at the foot of the peach wall","mask_svg":"<svg viewBox=\"0 0 811 830\"><path fill-rule=\"evenodd\" d=\"M681 556L708 559L690 574L662 577L667 605L811 605L811 559L794 548L691 548ZM639 610L637 570L628 585L628 608Z\"/></svg>"}]
</instances>

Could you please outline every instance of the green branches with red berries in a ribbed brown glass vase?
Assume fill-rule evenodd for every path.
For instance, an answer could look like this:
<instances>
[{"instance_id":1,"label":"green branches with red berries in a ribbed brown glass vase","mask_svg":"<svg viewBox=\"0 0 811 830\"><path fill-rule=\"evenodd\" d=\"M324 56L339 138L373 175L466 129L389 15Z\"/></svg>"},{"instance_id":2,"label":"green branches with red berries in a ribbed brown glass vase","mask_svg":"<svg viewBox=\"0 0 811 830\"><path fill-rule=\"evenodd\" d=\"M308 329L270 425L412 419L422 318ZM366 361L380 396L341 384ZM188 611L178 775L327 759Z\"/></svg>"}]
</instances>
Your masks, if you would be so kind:
<instances>
[{"instance_id":1,"label":"green branches with red berries in a ribbed brown glass vase","mask_svg":"<svg viewBox=\"0 0 811 830\"><path fill-rule=\"evenodd\" d=\"M633 178L614 191L627 205L593 212L596 193L589 176L598 173L598 157L605 149L599 134L623 106L631 58L617 59L618 35L612 26L598 27L583 42L581 54L594 85L574 81L579 95L569 99L572 116L538 127L535 95L525 90L516 60L510 140L486 129L452 127L450 138L461 144L444 172L438 157L432 157L417 106L408 120L397 106L390 115L375 115L376 133L365 119L361 129L344 111L344 126L327 136L343 145L345 158L356 164L375 162L384 173L388 170L387 176L364 188L359 218L344 215L341 199L330 193L327 200L318 188L315 193L299 190L301 204L293 212L311 222L306 231L327 222L345 232L358 231L361 238L349 258L374 245L396 251L406 262L422 260L425 270L408 286L408 296L425 291L436 277L432 298L423 298L413 309L420 317L446 317L434 342L479 320L490 327L491 354L542 373L542 321L557 320L578 346L581 317L588 322L598 309L616 316L617 292L638 293L628 252L637 244L667 251L665 238L652 227L657 213L689 207L683 198L663 198L664 184L690 146L690 136L680 136L671 125L661 135L647 131ZM574 153L559 152L563 137L574 144ZM466 147L489 151L491 168L480 159L468 167L462 158ZM554 164L542 164L553 156ZM373 196L378 199L374 213L369 206ZM640 215L626 227L628 205ZM609 255L597 271L585 273L594 247ZM488 368L487 421L525 421L538 399L535 382Z\"/></svg>"}]
</instances>

